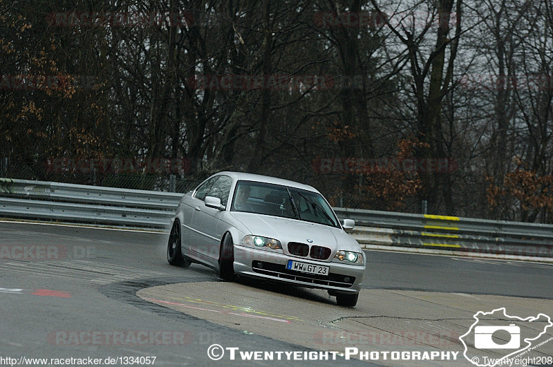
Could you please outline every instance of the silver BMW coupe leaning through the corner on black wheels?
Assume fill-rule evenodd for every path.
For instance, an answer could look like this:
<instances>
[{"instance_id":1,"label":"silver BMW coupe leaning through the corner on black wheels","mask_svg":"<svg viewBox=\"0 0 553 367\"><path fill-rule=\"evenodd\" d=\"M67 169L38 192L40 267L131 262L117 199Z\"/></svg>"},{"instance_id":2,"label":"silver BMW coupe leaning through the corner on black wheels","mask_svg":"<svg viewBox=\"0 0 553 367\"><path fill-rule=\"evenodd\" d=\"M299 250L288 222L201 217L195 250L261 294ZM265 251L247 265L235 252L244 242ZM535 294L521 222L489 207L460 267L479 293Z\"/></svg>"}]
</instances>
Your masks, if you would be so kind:
<instances>
[{"instance_id":1,"label":"silver BMW coupe leaning through the corner on black wheels","mask_svg":"<svg viewBox=\"0 0 553 367\"><path fill-rule=\"evenodd\" d=\"M201 263L222 279L246 276L328 290L357 303L366 268L359 243L313 187L220 172L182 197L167 245L171 265Z\"/></svg>"}]
</instances>

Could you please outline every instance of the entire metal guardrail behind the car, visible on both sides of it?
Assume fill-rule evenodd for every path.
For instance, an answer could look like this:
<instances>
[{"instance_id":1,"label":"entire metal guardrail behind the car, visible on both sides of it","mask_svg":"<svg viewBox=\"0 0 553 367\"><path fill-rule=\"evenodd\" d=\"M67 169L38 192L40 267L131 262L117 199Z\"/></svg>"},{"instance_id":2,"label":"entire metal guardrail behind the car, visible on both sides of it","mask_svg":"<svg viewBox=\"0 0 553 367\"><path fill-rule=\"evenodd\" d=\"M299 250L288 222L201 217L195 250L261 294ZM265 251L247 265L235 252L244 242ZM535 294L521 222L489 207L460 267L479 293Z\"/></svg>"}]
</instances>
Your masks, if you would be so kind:
<instances>
[{"instance_id":1,"label":"entire metal guardrail behind the car, visible on both sides of it","mask_svg":"<svg viewBox=\"0 0 553 367\"><path fill-rule=\"evenodd\" d=\"M168 229L182 194L0 178L0 217ZM334 208L361 244L553 258L553 225Z\"/></svg>"}]
</instances>

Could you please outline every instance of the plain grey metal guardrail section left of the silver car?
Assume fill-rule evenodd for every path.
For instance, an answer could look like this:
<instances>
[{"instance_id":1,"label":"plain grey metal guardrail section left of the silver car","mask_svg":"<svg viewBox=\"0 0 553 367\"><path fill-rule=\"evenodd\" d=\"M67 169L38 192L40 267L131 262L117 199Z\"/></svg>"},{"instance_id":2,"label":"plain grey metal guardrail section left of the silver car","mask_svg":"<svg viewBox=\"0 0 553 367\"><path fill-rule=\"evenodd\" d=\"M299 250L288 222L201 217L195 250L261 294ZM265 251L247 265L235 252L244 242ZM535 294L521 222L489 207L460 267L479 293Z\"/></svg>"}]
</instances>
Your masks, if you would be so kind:
<instances>
[{"instance_id":1,"label":"plain grey metal guardrail section left of the silver car","mask_svg":"<svg viewBox=\"0 0 553 367\"><path fill-rule=\"evenodd\" d=\"M167 229L182 194L0 178L0 216Z\"/></svg>"}]
</instances>

